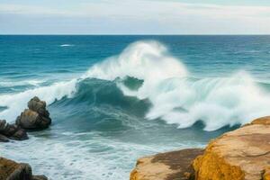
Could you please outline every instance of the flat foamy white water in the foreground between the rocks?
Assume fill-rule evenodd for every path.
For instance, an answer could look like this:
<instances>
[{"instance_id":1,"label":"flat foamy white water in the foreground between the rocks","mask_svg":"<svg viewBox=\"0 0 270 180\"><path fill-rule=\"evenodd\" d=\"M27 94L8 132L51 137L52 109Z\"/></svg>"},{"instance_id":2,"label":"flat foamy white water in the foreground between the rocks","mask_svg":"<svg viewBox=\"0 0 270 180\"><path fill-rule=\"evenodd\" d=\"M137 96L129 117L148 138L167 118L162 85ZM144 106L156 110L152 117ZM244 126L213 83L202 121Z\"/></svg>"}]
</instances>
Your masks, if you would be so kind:
<instances>
[{"instance_id":1,"label":"flat foamy white water in the foreground between the rocks","mask_svg":"<svg viewBox=\"0 0 270 180\"><path fill-rule=\"evenodd\" d=\"M94 132L62 132L58 136L62 138L31 137L20 143L5 143L1 156L27 162L35 174L45 174L49 179L124 180L129 179L137 157L186 147L180 142L174 147L139 145L105 139Z\"/></svg>"}]
</instances>

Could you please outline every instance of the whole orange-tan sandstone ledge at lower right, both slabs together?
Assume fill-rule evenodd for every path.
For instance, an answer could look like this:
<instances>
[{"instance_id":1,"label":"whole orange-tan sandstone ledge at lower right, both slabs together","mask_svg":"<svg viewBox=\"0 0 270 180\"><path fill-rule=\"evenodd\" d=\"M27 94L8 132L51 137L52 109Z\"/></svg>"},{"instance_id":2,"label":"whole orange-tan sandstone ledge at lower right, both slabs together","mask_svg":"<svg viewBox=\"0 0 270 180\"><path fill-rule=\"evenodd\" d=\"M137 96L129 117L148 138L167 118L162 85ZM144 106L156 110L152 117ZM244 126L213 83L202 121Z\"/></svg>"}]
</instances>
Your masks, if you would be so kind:
<instances>
[{"instance_id":1,"label":"whole orange-tan sandstone ledge at lower right, both slabs together","mask_svg":"<svg viewBox=\"0 0 270 180\"><path fill-rule=\"evenodd\" d=\"M170 166L170 161L153 160L160 155L140 158L130 180L270 180L270 116L211 140L203 154L189 158L192 166L181 152L170 160L178 161L177 167ZM170 153L164 158L170 158Z\"/></svg>"}]
</instances>

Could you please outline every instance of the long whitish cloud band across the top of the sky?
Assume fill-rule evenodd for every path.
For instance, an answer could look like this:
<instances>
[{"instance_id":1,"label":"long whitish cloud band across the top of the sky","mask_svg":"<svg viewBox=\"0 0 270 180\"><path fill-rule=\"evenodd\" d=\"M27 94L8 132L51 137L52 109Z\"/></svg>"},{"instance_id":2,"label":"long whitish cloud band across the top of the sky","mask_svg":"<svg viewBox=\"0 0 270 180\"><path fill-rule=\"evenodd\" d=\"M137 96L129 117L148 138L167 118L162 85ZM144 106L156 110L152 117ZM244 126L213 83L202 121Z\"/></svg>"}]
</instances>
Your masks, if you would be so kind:
<instances>
[{"instance_id":1,"label":"long whitish cloud band across the top of the sky","mask_svg":"<svg viewBox=\"0 0 270 180\"><path fill-rule=\"evenodd\" d=\"M87 2L87 1L85 1ZM0 4L1 14L49 14L67 16L157 17L162 15L203 15L215 17L268 17L270 6L187 4L175 1L111 0L74 4L69 11L54 7L24 4Z\"/></svg>"}]
</instances>

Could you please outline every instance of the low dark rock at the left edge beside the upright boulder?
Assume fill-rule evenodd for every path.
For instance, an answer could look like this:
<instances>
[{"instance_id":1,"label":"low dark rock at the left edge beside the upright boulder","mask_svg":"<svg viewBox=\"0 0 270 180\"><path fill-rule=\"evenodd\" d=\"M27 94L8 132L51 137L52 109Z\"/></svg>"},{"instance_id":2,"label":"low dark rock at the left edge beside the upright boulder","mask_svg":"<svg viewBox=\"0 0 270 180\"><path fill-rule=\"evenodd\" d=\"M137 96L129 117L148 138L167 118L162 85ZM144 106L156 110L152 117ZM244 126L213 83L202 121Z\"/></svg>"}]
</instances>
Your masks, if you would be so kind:
<instances>
[{"instance_id":1,"label":"low dark rock at the left edge beside the upright boulder","mask_svg":"<svg viewBox=\"0 0 270 180\"><path fill-rule=\"evenodd\" d=\"M9 139L28 139L27 133L16 124L9 124L5 120L0 120L0 141L7 142Z\"/></svg>"}]
</instances>

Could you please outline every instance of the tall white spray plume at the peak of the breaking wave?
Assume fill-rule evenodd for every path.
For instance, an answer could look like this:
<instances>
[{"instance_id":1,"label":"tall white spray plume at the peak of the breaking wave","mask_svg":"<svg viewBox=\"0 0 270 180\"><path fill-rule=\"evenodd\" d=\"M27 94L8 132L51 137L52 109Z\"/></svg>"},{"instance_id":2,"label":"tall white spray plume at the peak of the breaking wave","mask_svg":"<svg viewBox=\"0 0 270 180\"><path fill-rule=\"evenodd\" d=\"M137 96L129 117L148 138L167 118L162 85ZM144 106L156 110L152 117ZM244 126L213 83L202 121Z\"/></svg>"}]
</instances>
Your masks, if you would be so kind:
<instances>
[{"instance_id":1,"label":"tall white spray plume at the peak of the breaking wave","mask_svg":"<svg viewBox=\"0 0 270 180\"><path fill-rule=\"evenodd\" d=\"M94 65L83 77L114 80L118 77L136 77L144 80L137 96L144 99L155 95L149 91L166 79L187 76L180 60L169 56L166 47L157 41L139 41L124 49L120 56Z\"/></svg>"}]
</instances>

